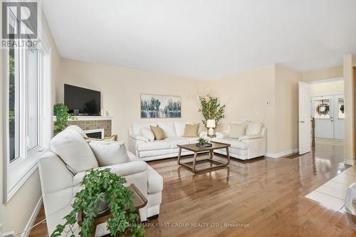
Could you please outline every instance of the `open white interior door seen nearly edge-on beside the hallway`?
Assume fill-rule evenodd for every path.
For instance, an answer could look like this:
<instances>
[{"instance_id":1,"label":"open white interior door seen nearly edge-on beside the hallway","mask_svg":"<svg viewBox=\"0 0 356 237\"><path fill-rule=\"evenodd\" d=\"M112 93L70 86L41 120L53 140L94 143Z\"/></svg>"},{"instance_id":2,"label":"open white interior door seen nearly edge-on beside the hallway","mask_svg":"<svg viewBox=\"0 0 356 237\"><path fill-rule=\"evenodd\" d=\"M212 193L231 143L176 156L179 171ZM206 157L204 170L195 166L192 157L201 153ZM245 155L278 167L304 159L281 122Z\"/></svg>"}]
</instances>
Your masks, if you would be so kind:
<instances>
[{"instance_id":1,"label":"open white interior door seen nearly edge-on beside the hallway","mask_svg":"<svg viewBox=\"0 0 356 237\"><path fill-rule=\"evenodd\" d=\"M299 154L310 152L310 88L299 82Z\"/></svg>"}]
</instances>

